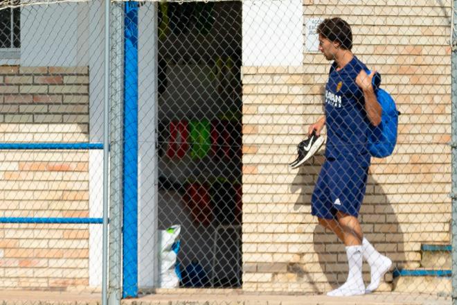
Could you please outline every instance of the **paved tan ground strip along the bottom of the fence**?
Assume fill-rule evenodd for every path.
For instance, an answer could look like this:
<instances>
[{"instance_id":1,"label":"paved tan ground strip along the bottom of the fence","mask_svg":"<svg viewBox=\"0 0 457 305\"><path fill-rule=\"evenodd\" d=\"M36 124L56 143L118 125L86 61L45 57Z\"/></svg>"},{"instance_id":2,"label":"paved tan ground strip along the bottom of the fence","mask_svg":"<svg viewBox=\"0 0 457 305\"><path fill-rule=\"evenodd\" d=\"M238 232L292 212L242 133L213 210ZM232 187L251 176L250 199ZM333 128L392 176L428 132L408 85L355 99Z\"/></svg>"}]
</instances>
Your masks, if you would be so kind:
<instances>
[{"instance_id":1,"label":"paved tan ground strip along the bottom of the fence","mask_svg":"<svg viewBox=\"0 0 457 305\"><path fill-rule=\"evenodd\" d=\"M100 293L0 291L1 305L98 305ZM451 305L449 297L379 293L359 297L327 297L325 295L253 295L240 290L183 291L156 293L136 299L125 299L123 305Z\"/></svg>"}]
</instances>

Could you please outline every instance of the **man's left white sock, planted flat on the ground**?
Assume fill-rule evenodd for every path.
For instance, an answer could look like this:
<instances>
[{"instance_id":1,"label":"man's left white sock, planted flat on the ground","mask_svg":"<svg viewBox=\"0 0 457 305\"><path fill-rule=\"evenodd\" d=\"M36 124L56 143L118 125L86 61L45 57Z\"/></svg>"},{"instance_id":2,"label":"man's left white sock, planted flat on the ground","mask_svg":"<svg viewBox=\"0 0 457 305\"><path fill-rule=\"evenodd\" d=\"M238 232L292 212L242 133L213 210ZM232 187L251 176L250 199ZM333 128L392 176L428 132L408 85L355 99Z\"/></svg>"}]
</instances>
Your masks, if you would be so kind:
<instances>
[{"instance_id":1,"label":"man's left white sock, planted flat on the ground","mask_svg":"<svg viewBox=\"0 0 457 305\"><path fill-rule=\"evenodd\" d=\"M362 254L363 246L351 245L346 247L348 256L348 279L341 287L330 291L327 295L331 297L347 297L350 295L363 295L365 293L364 279L362 278Z\"/></svg>"}]
</instances>

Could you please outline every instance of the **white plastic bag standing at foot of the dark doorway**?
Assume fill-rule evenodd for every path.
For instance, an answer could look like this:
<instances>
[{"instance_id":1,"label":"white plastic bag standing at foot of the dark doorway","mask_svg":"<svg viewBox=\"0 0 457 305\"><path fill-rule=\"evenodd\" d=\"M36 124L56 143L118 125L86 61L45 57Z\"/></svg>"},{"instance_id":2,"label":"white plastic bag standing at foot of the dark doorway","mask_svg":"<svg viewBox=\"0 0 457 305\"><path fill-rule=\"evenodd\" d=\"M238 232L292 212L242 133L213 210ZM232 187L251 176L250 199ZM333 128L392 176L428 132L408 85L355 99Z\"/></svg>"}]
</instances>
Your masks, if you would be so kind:
<instances>
[{"instance_id":1,"label":"white plastic bag standing at foot of the dark doorway","mask_svg":"<svg viewBox=\"0 0 457 305\"><path fill-rule=\"evenodd\" d=\"M159 230L159 286L161 288L179 287L181 274L177 267L179 251L180 225L172 225L166 230Z\"/></svg>"}]
</instances>

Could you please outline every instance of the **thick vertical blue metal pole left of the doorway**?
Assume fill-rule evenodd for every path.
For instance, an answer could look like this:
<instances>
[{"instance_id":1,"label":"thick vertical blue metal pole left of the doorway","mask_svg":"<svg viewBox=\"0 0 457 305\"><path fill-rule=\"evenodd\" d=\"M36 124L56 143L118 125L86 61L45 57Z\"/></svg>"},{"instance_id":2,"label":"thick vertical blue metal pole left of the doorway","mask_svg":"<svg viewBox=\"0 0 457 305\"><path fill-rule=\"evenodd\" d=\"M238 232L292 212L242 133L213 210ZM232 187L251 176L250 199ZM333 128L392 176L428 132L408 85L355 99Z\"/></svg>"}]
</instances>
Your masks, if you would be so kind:
<instances>
[{"instance_id":1,"label":"thick vertical blue metal pole left of the doorway","mask_svg":"<svg viewBox=\"0 0 457 305\"><path fill-rule=\"evenodd\" d=\"M138 295L138 3L124 19L123 298Z\"/></svg>"}]
</instances>

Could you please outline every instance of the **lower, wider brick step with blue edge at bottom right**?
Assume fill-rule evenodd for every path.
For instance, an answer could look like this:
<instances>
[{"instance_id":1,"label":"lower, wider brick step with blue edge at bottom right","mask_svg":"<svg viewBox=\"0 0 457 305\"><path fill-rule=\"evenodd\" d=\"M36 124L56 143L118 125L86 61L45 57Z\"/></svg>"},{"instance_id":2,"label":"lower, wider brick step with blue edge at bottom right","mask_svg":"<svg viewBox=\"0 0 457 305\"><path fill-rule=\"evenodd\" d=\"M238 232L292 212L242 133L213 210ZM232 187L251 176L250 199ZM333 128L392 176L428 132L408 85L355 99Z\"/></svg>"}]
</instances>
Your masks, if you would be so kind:
<instances>
[{"instance_id":1,"label":"lower, wider brick step with blue edge at bottom right","mask_svg":"<svg viewBox=\"0 0 457 305\"><path fill-rule=\"evenodd\" d=\"M393 291L395 293L428 293L431 295L451 294L451 270L394 270Z\"/></svg>"}]
</instances>

